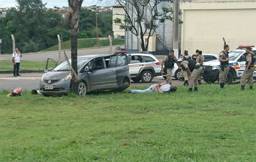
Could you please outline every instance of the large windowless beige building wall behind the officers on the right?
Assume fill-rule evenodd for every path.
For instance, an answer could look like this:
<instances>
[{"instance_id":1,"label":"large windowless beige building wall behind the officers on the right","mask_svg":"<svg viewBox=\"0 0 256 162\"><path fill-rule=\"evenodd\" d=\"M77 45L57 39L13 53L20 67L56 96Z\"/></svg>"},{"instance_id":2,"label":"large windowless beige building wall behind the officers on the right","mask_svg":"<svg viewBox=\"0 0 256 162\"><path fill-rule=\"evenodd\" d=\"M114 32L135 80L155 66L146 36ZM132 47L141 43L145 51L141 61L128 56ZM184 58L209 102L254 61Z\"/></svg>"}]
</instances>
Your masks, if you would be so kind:
<instances>
[{"instance_id":1,"label":"large windowless beige building wall behind the officers on the right","mask_svg":"<svg viewBox=\"0 0 256 162\"><path fill-rule=\"evenodd\" d=\"M181 51L218 54L223 37L230 51L256 46L256 0L192 0L180 3Z\"/></svg>"}]
</instances>

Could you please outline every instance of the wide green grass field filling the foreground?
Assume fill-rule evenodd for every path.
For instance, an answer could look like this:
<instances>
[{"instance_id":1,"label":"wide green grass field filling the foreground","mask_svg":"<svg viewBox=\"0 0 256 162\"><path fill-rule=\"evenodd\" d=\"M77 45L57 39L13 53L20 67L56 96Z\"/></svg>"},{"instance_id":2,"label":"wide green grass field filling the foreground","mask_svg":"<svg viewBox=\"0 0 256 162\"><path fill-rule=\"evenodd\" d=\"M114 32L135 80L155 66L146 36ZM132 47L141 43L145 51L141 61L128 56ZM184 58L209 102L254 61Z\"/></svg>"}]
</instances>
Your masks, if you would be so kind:
<instances>
[{"instance_id":1,"label":"wide green grass field filling the foreground","mask_svg":"<svg viewBox=\"0 0 256 162\"><path fill-rule=\"evenodd\" d=\"M239 88L11 98L2 91L0 161L253 162L256 90Z\"/></svg>"}]
</instances>

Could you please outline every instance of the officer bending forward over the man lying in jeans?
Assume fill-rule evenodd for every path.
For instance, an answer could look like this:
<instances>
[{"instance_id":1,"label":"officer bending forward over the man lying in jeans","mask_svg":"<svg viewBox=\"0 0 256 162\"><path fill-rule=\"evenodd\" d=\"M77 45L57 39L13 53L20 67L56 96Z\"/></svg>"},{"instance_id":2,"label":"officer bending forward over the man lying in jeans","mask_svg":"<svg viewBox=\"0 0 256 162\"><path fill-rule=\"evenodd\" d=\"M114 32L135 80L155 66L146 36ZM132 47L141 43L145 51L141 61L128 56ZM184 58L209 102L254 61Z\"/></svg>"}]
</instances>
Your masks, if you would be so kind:
<instances>
[{"instance_id":1,"label":"officer bending forward over the man lying in jeans","mask_svg":"<svg viewBox=\"0 0 256 162\"><path fill-rule=\"evenodd\" d=\"M190 60L184 59L183 61L177 62L178 67L181 67L183 71L187 71L188 80L189 80L189 92L192 91L193 86L195 87L194 90L197 91L197 80L200 77L200 73L203 70L203 67L200 63Z\"/></svg>"}]
</instances>

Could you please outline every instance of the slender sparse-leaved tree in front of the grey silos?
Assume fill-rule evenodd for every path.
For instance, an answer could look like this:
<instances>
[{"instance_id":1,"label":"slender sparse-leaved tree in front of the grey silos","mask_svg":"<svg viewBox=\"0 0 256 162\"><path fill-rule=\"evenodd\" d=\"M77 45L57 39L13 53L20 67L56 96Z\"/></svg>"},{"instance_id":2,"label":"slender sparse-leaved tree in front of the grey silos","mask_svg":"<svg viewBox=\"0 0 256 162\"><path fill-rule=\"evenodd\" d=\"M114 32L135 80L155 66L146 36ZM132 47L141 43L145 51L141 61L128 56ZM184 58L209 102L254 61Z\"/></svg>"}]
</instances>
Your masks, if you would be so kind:
<instances>
[{"instance_id":1,"label":"slender sparse-leaved tree in front of the grey silos","mask_svg":"<svg viewBox=\"0 0 256 162\"><path fill-rule=\"evenodd\" d=\"M146 51L148 48L149 37L151 37L155 30L165 22L165 20L173 21L173 9L170 6L159 5L161 2L173 3L174 0L116 0L118 4L124 9L125 14L116 13L115 15L124 16L124 19L116 18L114 23L120 29L132 32L135 36L141 39L141 50ZM133 8L133 9L131 9ZM135 15L132 16L132 14ZM181 12L179 11L179 14ZM182 23L179 20L179 23ZM144 36L147 35L147 42L145 46Z\"/></svg>"}]
</instances>

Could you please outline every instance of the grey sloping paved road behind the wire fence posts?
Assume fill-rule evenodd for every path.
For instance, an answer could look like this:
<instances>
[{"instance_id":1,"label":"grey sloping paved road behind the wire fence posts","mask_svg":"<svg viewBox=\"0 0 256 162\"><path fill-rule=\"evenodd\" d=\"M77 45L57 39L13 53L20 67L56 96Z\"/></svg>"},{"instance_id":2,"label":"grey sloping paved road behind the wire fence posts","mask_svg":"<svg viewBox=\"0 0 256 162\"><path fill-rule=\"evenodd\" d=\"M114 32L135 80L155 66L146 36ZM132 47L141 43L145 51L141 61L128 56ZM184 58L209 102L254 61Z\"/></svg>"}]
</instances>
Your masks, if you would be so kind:
<instances>
[{"instance_id":1,"label":"grey sloping paved road behind the wire fence posts","mask_svg":"<svg viewBox=\"0 0 256 162\"><path fill-rule=\"evenodd\" d=\"M124 48L124 46L120 46L121 48ZM114 53L116 46L112 46L112 53ZM68 58L71 58L71 51L65 51ZM77 50L77 56L83 56L83 55L92 55L92 54L108 54L109 53L109 47L100 47L100 48L89 48L89 49L80 49ZM0 61L2 60L11 60L11 55L2 55L0 56ZM21 60L23 61L46 61L47 58L51 58L55 61L58 61L59 59L59 52L53 51L53 52L37 52L37 53L29 53L29 54L23 54ZM64 60L64 52L61 51L61 60Z\"/></svg>"}]
</instances>

